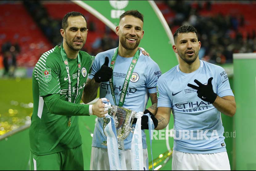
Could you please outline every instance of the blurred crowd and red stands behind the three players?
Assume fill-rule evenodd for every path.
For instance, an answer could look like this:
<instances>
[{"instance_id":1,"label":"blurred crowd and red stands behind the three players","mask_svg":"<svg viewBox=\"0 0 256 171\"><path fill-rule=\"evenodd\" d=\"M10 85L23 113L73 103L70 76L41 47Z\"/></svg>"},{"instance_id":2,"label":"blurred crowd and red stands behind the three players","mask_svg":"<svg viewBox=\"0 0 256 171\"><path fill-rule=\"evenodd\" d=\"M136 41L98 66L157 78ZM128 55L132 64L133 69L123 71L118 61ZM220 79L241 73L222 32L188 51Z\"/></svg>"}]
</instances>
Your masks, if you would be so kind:
<instances>
[{"instance_id":1,"label":"blurred crowd and red stands behind the three players","mask_svg":"<svg viewBox=\"0 0 256 171\"><path fill-rule=\"evenodd\" d=\"M197 28L202 60L226 64L233 62L233 53L256 52L255 1L155 3L172 33L184 24ZM61 20L70 10L87 18L89 34L82 50L96 55L118 46L118 36L108 26L71 1L0 1L0 76L13 76L16 67L34 67L41 54L60 45Z\"/></svg>"}]
</instances>

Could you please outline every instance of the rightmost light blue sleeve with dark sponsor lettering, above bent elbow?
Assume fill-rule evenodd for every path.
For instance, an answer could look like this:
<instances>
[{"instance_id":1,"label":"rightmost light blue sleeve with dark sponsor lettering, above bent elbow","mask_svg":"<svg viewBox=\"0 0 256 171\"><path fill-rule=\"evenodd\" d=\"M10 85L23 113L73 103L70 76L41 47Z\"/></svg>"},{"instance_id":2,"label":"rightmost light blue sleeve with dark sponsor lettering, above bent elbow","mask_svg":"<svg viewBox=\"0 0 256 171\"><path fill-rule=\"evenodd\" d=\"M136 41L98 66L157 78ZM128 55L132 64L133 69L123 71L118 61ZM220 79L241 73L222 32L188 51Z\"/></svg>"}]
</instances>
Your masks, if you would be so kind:
<instances>
[{"instance_id":1,"label":"rightmost light blue sleeve with dark sponsor lettering, above bent elbow","mask_svg":"<svg viewBox=\"0 0 256 171\"><path fill-rule=\"evenodd\" d=\"M229 78L227 73L222 67L218 67L217 74L217 95L220 97L234 96L232 89L229 85Z\"/></svg>"}]
</instances>

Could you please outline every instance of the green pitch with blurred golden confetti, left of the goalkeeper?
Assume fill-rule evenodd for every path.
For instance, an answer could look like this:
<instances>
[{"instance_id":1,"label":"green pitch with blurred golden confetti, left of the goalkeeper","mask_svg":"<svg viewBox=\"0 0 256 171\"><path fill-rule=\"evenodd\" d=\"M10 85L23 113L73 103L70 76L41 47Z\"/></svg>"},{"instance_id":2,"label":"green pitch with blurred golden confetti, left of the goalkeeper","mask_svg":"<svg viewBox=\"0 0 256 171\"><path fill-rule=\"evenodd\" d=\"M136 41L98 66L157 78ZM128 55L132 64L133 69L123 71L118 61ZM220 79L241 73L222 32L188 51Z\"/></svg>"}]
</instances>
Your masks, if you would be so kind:
<instances>
[{"instance_id":1,"label":"green pitch with blurred golden confetti, left of the goalkeeper","mask_svg":"<svg viewBox=\"0 0 256 171\"><path fill-rule=\"evenodd\" d=\"M0 79L0 136L30 123L33 111L31 79Z\"/></svg>"}]
</instances>

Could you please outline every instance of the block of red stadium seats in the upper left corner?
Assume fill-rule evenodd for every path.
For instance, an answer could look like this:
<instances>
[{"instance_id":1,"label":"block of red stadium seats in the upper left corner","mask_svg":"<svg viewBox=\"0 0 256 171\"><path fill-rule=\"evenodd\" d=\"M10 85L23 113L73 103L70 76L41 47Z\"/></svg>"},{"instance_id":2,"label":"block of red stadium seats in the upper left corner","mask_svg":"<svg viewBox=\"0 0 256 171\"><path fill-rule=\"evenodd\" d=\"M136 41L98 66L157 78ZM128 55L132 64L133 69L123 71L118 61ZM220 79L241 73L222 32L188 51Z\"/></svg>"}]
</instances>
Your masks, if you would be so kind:
<instances>
[{"instance_id":1,"label":"block of red stadium seats in the upper left corner","mask_svg":"<svg viewBox=\"0 0 256 171\"><path fill-rule=\"evenodd\" d=\"M19 43L18 66L34 66L41 54L52 48L23 4L1 4L0 16L0 46L7 41Z\"/></svg>"}]
</instances>

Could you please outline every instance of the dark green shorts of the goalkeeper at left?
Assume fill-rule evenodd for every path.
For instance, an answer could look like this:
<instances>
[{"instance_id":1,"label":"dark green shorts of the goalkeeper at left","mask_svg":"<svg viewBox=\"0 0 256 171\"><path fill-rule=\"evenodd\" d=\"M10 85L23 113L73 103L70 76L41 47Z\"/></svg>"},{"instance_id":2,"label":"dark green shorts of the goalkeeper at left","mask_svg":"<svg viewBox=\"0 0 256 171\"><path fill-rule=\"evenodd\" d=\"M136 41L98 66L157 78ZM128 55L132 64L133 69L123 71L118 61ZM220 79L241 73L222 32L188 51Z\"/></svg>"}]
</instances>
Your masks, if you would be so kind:
<instances>
[{"instance_id":1,"label":"dark green shorts of the goalkeeper at left","mask_svg":"<svg viewBox=\"0 0 256 171\"><path fill-rule=\"evenodd\" d=\"M31 152L30 170L84 170L82 146L43 156Z\"/></svg>"}]
</instances>

